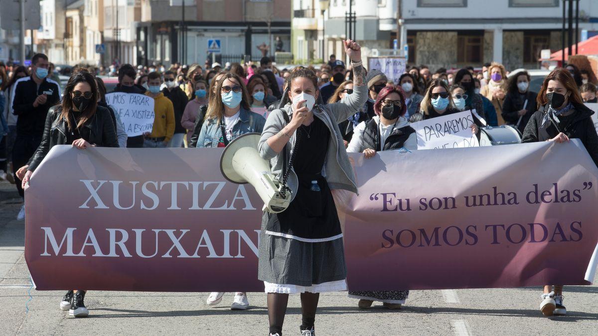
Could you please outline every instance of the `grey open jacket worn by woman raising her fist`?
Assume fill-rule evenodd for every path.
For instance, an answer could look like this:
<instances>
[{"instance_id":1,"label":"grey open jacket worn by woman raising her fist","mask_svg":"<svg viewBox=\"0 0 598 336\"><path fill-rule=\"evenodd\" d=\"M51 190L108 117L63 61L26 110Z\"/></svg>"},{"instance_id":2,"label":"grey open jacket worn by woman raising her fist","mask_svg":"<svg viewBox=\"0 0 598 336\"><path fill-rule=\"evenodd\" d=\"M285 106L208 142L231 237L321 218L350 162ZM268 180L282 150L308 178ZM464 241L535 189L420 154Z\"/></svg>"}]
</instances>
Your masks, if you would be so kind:
<instances>
[{"instance_id":1,"label":"grey open jacket worn by woman raising her fist","mask_svg":"<svg viewBox=\"0 0 598 336\"><path fill-rule=\"evenodd\" d=\"M286 94L286 92L285 92ZM357 185L355 183L355 174L353 168L349 163L347 151L344 148L343 136L341 135L338 124L347 120L351 115L356 114L359 108L364 106L368 100L368 88L363 86L356 86L353 88L353 93L344 97L343 100L337 103L328 105L315 105L313 107L313 115L316 118L324 121L324 124L330 130L330 142L328 143L328 151L326 154L326 161L322 176L325 176L330 189L344 189L357 193ZM291 104L286 104L280 109L275 109L270 113L264 125L264 130L261 135L258 150L264 160L270 160L270 167L272 173L279 181L282 181L283 175L283 153L277 153L272 149L266 140L271 136L276 136L286 126L286 121L283 116L286 113L289 119L292 117ZM290 142L294 147L295 133L291 136ZM285 146L287 151L287 160L291 157L291 146ZM291 169L287 180L287 185L291 188L292 199L295 198L298 188L298 179L294 170Z\"/></svg>"}]
</instances>

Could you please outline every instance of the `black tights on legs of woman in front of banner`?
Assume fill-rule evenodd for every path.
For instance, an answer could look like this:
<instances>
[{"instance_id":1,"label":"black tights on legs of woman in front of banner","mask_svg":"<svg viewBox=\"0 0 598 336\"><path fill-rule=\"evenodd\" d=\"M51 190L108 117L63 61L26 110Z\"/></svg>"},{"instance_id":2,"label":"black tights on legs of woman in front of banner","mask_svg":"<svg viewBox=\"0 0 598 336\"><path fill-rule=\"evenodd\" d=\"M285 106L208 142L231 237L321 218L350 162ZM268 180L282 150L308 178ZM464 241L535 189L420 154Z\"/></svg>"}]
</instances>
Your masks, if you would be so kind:
<instances>
[{"instance_id":1,"label":"black tights on legs of woman in front of banner","mask_svg":"<svg viewBox=\"0 0 598 336\"><path fill-rule=\"evenodd\" d=\"M311 329L316 320L319 293L301 293L301 327ZM282 335L282 323L285 322L286 306L289 303L288 294L268 293L268 319L270 320L270 334L278 332Z\"/></svg>"}]
</instances>

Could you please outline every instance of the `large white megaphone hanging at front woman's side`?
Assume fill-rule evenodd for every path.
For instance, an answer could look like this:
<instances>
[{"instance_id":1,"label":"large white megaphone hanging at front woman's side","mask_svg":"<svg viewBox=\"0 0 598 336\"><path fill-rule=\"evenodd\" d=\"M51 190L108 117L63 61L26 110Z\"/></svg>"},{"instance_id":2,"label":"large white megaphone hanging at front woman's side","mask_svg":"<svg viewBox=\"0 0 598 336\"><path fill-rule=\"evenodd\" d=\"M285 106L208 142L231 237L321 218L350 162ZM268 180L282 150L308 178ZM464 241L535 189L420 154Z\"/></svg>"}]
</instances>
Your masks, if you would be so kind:
<instances>
[{"instance_id":1,"label":"large white megaphone hanging at front woman's side","mask_svg":"<svg viewBox=\"0 0 598 336\"><path fill-rule=\"evenodd\" d=\"M236 184L251 184L264 201L263 211L283 212L291 204L291 191L280 194L282 184L270 170L270 163L260 157L260 133L247 133L232 140L220 157L222 176Z\"/></svg>"}]
</instances>

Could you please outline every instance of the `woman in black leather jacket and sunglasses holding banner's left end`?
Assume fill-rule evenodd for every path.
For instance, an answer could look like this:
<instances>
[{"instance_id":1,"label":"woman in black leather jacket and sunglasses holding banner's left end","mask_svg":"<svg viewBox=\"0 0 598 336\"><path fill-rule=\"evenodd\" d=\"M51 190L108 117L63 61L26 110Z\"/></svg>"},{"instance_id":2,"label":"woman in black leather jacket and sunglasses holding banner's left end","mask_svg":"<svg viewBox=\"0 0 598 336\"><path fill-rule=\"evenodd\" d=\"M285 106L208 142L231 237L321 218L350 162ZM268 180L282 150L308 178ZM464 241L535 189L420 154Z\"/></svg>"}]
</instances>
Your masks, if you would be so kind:
<instances>
[{"instance_id":1,"label":"woman in black leather jacket and sunglasses holding banner's left end","mask_svg":"<svg viewBox=\"0 0 598 336\"><path fill-rule=\"evenodd\" d=\"M110 112L97 105L98 100L96 80L89 72L80 70L69 78L62 103L48 111L44 136L38 149L28 166L19 169L19 174L26 170L22 176L24 190L30 183L32 173L53 146L72 145L78 149L118 147ZM81 289L66 292L60 302L60 309L68 310L71 316L87 316L89 311L83 302L85 295L86 291Z\"/></svg>"}]
</instances>

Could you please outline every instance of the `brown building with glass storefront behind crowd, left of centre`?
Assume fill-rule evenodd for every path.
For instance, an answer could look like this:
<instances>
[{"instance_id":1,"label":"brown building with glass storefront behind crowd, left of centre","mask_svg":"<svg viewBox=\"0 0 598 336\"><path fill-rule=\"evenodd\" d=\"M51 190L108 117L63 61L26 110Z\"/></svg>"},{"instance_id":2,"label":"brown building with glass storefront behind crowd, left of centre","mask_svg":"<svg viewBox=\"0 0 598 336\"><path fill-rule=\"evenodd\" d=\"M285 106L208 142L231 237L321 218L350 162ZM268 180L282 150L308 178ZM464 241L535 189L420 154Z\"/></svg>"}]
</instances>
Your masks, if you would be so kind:
<instances>
[{"instance_id":1,"label":"brown building with glass storefront behind crowd, left of centre","mask_svg":"<svg viewBox=\"0 0 598 336\"><path fill-rule=\"evenodd\" d=\"M288 0L141 0L137 63L258 60L274 56L277 38L290 51L290 32ZM209 52L210 40L220 42L219 53Z\"/></svg>"}]
</instances>

